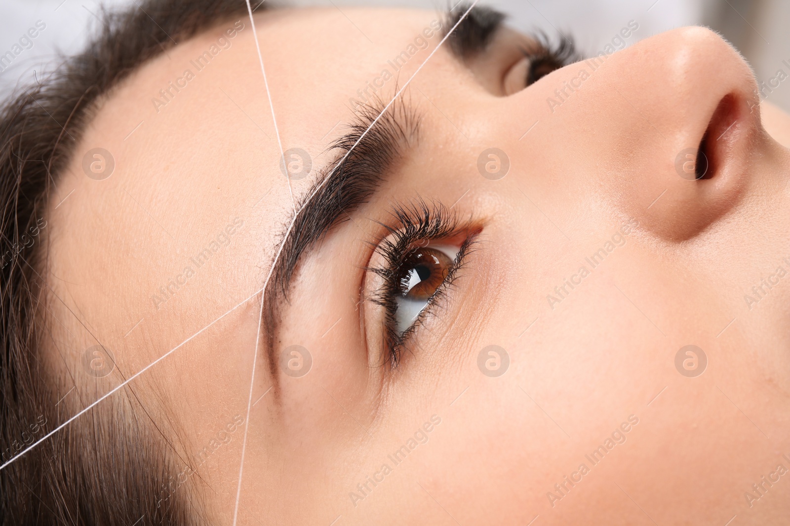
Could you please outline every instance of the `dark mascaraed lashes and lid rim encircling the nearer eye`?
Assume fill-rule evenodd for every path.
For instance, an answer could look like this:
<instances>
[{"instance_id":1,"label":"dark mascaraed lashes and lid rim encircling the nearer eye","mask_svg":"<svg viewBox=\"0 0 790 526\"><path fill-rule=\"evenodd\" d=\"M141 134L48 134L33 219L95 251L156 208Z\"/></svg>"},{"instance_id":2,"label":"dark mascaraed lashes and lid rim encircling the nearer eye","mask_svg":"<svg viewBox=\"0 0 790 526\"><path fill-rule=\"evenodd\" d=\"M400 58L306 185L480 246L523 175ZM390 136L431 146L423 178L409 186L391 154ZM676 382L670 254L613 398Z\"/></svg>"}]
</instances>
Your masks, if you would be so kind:
<instances>
[{"instance_id":1,"label":"dark mascaraed lashes and lid rim encircling the nearer eye","mask_svg":"<svg viewBox=\"0 0 790 526\"><path fill-rule=\"evenodd\" d=\"M395 367L401 360L404 342L416 330L416 327L423 323L438 300L444 297L446 289L453 285L458 271L464 266L465 256L470 252L474 240L473 236L465 239L442 285L439 285L438 289L428 298L426 306L420 311L414 323L402 334L398 334L394 319L397 311L395 298L400 292L397 270L406 257L408 248L416 241L455 237L465 232L468 227L442 203L425 203L419 200L407 206L396 204L393 205L392 213L399 226L393 227L380 223L391 234L392 239L385 239L378 244L377 248L378 252L384 256L386 264L384 267L373 267L366 270L378 274L385 282L382 288L374 293L371 300L386 309L385 343L390 353L390 364Z\"/></svg>"}]
</instances>

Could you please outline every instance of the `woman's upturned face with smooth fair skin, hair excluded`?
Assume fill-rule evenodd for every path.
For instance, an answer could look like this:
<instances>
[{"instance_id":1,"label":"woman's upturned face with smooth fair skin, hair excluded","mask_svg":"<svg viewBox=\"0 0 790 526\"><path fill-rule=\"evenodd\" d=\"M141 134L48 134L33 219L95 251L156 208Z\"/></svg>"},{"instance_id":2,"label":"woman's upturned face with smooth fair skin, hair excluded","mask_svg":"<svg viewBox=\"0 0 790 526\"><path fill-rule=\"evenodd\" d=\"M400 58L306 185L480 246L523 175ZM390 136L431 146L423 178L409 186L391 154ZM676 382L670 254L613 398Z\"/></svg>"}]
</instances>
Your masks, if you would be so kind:
<instances>
[{"instance_id":1,"label":"woman's upturned face with smooth fair skin, hair excluded","mask_svg":"<svg viewBox=\"0 0 790 526\"><path fill-rule=\"evenodd\" d=\"M439 20L256 14L273 110L249 19L107 98L47 225L79 389L183 344L130 386L183 461L162 498L222 524L239 476L239 524L781 522L790 159L747 63L623 21L640 42L526 86L534 43L505 29L423 65ZM404 87L316 188L355 104Z\"/></svg>"}]
</instances>

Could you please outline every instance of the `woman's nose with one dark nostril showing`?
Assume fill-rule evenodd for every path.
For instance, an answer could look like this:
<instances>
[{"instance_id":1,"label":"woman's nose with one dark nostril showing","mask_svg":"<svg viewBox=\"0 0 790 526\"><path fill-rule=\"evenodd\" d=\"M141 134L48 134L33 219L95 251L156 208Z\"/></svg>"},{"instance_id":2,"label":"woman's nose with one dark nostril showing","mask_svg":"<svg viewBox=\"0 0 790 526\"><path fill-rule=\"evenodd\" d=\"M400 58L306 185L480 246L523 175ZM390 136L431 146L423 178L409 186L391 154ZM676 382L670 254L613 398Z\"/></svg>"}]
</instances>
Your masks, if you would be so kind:
<instances>
[{"instance_id":1,"label":"woman's nose with one dark nostril showing","mask_svg":"<svg viewBox=\"0 0 790 526\"><path fill-rule=\"evenodd\" d=\"M672 241L693 237L739 202L762 130L757 85L719 35L679 28L560 69L554 84L563 75L585 78L547 125L577 138L567 159L590 191Z\"/></svg>"}]
</instances>

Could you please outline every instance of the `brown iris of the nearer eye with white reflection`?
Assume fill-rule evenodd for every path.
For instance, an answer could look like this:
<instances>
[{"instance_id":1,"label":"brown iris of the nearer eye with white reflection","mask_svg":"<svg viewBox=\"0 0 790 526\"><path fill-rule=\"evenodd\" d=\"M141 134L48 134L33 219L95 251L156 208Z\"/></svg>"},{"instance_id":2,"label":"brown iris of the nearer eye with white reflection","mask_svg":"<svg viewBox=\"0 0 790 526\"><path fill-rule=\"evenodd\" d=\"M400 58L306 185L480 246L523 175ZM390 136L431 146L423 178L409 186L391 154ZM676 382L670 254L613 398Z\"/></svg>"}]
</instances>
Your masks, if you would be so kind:
<instances>
[{"instance_id":1,"label":"brown iris of the nearer eye with white reflection","mask_svg":"<svg viewBox=\"0 0 790 526\"><path fill-rule=\"evenodd\" d=\"M407 300L427 300L450 274L453 260L435 248L413 249L401 263L401 285Z\"/></svg>"}]
</instances>

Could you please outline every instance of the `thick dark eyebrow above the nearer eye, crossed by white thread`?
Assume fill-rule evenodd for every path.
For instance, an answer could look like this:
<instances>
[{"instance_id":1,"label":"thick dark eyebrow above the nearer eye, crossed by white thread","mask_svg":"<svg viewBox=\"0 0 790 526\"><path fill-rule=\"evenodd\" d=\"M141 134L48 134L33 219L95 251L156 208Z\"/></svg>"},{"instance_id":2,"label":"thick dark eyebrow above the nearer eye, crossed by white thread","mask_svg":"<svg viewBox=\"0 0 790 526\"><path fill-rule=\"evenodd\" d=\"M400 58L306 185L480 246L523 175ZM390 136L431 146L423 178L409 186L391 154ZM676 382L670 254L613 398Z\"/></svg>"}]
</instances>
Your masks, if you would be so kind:
<instances>
[{"instance_id":1,"label":"thick dark eyebrow above the nearer eye, crossed by white thread","mask_svg":"<svg viewBox=\"0 0 790 526\"><path fill-rule=\"evenodd\" d=\"M355 121L347 125L348 132L329 146L329 151L337 150L337 155L321 170L323 177L317 178L297 204L300 212L292 217L290 235L284 238L282 255L273 268L273 286L263 298L267 305L272 372L276 367L271 356L276 316L282 300L288 300L299 259L329 229L351 218L352 212L366 203L386 180L397 159L419 140L419 114L403 96L386 110L385 106L381 99L375 99L359 108Z\"/></svg>"}]
</instances>

